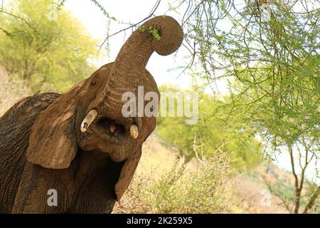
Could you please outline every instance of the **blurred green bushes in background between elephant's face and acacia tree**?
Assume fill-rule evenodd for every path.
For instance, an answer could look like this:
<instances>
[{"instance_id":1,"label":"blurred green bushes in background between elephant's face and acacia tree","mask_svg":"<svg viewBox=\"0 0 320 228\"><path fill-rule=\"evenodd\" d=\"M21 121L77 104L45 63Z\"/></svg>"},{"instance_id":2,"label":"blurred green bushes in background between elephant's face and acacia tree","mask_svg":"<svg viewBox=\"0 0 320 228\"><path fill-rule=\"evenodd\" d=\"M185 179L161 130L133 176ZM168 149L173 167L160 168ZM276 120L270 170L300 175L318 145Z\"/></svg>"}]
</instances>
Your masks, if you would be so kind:
<instances>
[{"instance_id":1,"label":"blurred green bushes in background between elephant's face and acacia tree","mask_svg":"<svg viewBox=\"0 0 320 228\"><path fill-rule=\"evenodd\" d=\"M161 92L176 92L178 88L160 87ZM213 157L228 152L233 166L238 169L251 168L260 160L261 145L253 130L237 121L225 122L220 116L226 113L218 100L203 94L199 104L199 122L186 125L185 118L158 118L156 133L165 142L176 147L180 155L191 157ZM196 155L197 152L197 155Z\"/></svg>"}]
</instances>

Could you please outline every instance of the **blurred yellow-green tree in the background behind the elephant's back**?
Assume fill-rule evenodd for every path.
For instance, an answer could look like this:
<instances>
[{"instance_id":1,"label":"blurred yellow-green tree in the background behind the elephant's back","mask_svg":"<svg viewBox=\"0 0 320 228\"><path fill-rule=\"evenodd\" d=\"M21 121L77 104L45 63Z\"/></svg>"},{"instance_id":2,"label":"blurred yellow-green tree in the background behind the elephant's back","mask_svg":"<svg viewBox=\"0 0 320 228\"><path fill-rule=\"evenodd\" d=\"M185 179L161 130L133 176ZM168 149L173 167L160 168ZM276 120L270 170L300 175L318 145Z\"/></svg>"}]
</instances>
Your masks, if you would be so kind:
<instances>
[{"instance_id":1,"label":"blurred yellow-green tree in the background behind the elephant's back","mask_svg":"<svg viewBox=\"0 0 320 228\"><path fill-rule=\"evenodd\" d=\"M11 35L0 33L0 64L10 76L35 92L63 92L90 76L97 41L70 12L50 0L18 0L9 9L16 17L0 14L0 26Z\"/></svg>"}]
</instances>

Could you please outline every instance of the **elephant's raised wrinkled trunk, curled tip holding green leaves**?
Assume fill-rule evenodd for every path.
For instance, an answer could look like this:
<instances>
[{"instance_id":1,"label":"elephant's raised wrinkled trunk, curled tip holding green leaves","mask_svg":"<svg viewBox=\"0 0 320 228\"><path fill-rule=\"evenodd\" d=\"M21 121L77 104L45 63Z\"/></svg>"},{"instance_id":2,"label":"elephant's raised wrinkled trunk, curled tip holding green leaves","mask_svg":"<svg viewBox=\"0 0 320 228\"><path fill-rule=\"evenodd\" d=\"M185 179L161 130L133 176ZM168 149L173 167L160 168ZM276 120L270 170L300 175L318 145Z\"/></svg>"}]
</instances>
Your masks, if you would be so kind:
<instances>
[{"instance_id":1,"label":"elephant's raised wrinkled trunk, curled tip holding green leaves","mask_svg":"<svg viewBox=\"0 0 320 228\"><path fill-rule=\"evenodd\" d=\"M122 46L102 94L90 108L99 107L97 110L108 113L110 118L119 118L124 103L122 94L135 93L139 85L148 86L149 81L153 81L145 78L151 54L154 51L162 56L174 53L182 40L182 28L171 16L156 16L146 21Z\"/></svg>"}]
</instances>

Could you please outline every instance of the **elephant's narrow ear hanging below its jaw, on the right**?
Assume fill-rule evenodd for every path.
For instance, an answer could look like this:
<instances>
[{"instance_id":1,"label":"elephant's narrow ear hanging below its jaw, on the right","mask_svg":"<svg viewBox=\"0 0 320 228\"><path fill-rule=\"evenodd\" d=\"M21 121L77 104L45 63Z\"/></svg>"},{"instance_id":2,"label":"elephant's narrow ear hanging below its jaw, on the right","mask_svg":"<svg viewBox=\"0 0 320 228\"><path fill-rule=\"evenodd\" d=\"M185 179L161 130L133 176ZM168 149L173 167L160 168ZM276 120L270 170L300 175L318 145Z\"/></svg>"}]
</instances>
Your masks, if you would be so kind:
<instances>
[{"instance_id":1,"label":"elephant's narrow ear hanging below its jaw, on the right","mask_svg":"<svg viewBox=\"0 0 320 228\"><path fill-rule=\"evenodd\" d=\"M127 190L127 187L129 186L132 177L134 175L134 172L137 169L137 165L139 163L140 157L142 155L142 149L140 148L137 152L132 155L132 157L129 157L122 166L122 170L119 175L119 180L117 184L115 185L115 193L117 195L117 201L119 201L124 194L124 192Z\"/></svg>"}]
</instances>

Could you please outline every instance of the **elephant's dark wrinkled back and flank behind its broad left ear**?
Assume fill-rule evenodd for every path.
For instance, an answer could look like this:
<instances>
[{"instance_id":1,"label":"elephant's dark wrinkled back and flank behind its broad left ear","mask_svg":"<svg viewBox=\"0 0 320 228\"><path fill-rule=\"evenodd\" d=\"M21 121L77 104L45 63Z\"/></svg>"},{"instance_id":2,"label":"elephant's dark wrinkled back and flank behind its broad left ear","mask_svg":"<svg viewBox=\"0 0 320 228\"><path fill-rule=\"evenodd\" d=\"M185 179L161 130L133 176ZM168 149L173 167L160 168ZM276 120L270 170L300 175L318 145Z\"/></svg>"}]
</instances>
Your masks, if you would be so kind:
<instances>
[{"instance_id":1,"label":"elephant's dark wrinkled back and flank behind its broad left ear","mask_svg":"<svg viewBox=\"0 0 320 228\"><path fill-rule=\"evenodd\" d=\"M0 118L0 213L10 213L14 204L32 125L58 97L41 93L23 98Z\"/></svg>"}]
</instances>

